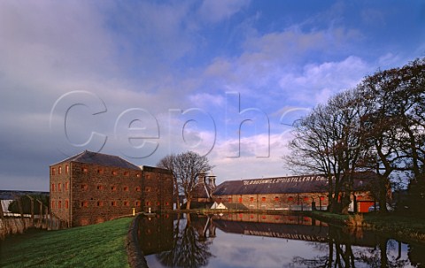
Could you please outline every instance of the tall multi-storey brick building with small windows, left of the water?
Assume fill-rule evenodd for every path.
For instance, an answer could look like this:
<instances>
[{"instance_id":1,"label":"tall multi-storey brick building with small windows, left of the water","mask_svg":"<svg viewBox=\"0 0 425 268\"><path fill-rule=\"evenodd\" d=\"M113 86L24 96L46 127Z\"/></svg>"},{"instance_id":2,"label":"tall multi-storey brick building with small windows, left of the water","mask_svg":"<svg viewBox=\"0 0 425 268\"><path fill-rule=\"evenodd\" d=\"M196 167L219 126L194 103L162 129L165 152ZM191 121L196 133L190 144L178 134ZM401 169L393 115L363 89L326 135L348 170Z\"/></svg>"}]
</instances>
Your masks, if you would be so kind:
<instances>
[{"instance_id":1,"label":"tall multi-storey brick building with small windows, left of the water","mask_svg":"<svg viewBox=\"0 0 425 268\"><path fill-rule=\"evenodd\" d=\"M50 211L85 226L141 211L172 211L173 176L111 155L83 151L50 165Z\"/></svg>"}]
</instances>

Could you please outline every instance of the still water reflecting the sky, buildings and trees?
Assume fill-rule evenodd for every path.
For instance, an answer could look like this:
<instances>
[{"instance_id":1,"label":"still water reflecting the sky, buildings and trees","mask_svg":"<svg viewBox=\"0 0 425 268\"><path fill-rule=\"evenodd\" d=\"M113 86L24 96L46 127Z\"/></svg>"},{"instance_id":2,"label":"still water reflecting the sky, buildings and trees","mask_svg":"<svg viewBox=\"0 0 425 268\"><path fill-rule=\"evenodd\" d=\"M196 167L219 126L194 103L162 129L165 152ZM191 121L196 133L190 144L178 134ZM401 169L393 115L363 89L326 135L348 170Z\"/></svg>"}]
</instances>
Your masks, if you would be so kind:
<instances>
[{"instance_id":1,"label":"still water reflecting the sky, buildings and trees","mask_svg":"<svg viewBox=\"0 0 425 268\"><path fill-rule=\"evenodd\" d=\"M141 218L149 267L425 267L425 244L396 241L301 215Z\"/></svg>"}]
</instances>

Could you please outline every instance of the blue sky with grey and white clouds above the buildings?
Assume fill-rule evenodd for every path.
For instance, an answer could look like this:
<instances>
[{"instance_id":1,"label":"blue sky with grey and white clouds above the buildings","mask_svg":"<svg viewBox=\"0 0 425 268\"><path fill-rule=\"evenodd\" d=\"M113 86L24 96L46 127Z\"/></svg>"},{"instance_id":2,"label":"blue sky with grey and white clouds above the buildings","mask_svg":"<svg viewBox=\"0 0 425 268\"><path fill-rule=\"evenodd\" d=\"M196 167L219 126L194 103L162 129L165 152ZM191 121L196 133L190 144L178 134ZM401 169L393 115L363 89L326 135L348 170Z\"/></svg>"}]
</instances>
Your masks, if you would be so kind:
<instances>
[{"instance_id":1,"label":"blue sky with grey and white clouds above the buildings","mask_svg":"<svg viewBox=\"0 0 425 268\"><path fill-rule=\"evenodd\" d=\"M418 57L421 1L0 1L0 189L85 149L290 175L294 120Z\"/></svg>"}]
</instances>

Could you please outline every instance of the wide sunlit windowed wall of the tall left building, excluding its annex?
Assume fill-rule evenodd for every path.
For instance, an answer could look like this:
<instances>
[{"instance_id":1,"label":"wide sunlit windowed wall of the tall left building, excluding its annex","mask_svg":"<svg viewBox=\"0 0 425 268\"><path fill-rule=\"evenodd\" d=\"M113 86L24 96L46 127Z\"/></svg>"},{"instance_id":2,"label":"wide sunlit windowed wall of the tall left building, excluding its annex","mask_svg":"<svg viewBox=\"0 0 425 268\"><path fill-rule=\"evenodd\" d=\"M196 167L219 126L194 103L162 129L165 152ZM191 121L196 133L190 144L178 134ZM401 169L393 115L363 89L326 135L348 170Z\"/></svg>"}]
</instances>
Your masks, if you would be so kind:
<instances>
[{"instance_id":1,"label":"wide sunlit windowed wall of the tall left building, excluding its annex","mask_svg":"<svg viewBox=\"0 0 425 268\"><path fill-rule=\"evenodd\" d=\"M73 226L142 211L142 171L73 162L72 180Z\"/></svg>"}]
</instances>

